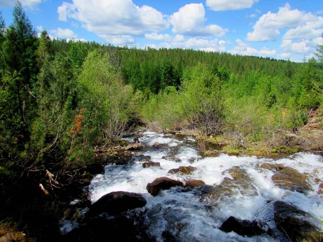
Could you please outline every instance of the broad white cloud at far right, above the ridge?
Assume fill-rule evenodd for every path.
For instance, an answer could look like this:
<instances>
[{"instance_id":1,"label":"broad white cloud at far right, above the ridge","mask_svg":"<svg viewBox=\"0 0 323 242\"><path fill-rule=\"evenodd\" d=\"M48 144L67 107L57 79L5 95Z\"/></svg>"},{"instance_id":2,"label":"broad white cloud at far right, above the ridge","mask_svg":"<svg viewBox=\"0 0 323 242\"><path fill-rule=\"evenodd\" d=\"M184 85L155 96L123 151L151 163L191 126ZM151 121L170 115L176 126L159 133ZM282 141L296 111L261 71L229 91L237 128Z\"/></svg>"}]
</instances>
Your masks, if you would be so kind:
<instances>
[{"instance_id":1,"label":"broad white cloud at far right, above the ridge","mask_svg":"<svg viewBox=\"0 0 323 242\"><path fill-rule=\"evenodd\" d=\"M303 32L308 32L306 25L310 24L312 27L321 25L322 17L297 9L290 10L290 8L287 3L284 7L280 7L277 13L269 11L262 15L253 26L254 31L249 32L246 39L248 41L276 40L281 28L289 29L290 32L287 31L286 34L296 38L297 34L292 29L304 28Z\"/></svg>"}]
</instances>

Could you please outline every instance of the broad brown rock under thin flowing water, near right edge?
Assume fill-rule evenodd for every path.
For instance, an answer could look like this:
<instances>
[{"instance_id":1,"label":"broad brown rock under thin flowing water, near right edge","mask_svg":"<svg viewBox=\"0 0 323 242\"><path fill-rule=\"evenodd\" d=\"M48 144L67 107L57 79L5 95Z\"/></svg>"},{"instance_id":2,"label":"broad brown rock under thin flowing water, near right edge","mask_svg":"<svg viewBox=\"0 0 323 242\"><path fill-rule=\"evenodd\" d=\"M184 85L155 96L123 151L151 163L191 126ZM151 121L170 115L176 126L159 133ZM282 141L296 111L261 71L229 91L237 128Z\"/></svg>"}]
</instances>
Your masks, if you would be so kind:
<instances>
[{"instance_id":1,"label":"broad brown rock under thin flowing water, near right edge","mask_svg":"<svg viewBox=\"0 0 323 242\"><path fill-rule=\"evenodd\" d=\"M310 189L307 184L306 176L290 167L278 171L271 179L276 187L282 189L300 193L306 193Z\"/></svg>"}]
</instances>

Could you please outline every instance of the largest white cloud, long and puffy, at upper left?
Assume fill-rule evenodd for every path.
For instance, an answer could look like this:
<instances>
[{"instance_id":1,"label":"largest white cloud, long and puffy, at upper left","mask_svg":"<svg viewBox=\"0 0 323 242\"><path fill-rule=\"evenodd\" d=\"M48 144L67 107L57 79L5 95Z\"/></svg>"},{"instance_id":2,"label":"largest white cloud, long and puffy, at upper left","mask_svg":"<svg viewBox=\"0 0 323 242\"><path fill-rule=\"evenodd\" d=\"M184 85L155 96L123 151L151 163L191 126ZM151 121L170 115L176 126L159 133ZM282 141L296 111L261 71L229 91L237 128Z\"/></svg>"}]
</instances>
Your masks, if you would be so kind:
<instances>
[{"instance_id":1,"label":"largest white cloud, long and puffy, at upper left","mask_svg":"<svg viewBox=\"0 0 323 242\"><path fill-rule=\"evenodd\" d=\"M88 31L103 35L142 35L169 27L161 12L131 0L73 0L63 2L57 12L59 20L78 20Z\"/></svg>"}]
</instances>

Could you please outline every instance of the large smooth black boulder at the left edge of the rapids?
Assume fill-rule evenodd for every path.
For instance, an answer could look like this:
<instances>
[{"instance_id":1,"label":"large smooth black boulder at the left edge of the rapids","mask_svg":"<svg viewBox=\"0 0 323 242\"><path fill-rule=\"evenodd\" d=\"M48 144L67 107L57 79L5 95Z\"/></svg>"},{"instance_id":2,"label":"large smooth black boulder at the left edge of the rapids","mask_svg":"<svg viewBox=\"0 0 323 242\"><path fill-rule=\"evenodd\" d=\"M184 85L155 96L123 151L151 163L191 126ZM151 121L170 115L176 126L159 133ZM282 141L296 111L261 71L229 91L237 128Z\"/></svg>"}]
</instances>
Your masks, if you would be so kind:
<instances>
[{"instance_id":1,"label":"large smooth black boulder at the left edge of the rapids","mask_svg":"<svg viewBox=\"0 0 323 242\"><path fill-rule=\"evenodd\" d=\"M110 192L93 203L86 216L95 217L103 212L108 213L109 216L116 216L130 209L144 207L146 203L146 199L140 193Z\"/></svg>"}]
</instances>

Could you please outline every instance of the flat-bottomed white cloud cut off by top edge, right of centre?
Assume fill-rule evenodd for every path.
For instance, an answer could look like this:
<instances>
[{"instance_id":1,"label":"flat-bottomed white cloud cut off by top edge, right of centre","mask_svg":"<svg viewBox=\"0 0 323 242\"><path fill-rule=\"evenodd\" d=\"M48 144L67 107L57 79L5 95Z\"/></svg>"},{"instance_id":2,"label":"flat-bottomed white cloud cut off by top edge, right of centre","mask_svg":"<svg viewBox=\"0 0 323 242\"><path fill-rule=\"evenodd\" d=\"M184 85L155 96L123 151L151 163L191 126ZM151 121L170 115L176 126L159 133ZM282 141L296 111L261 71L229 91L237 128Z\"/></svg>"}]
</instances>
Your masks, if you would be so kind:
<instances>
[{"instance_id":1,"label":"flat-bottomed white cloud cut off by top edge, right of centre","mask_svg":"<svg viewBox=\"0 0 323 242\"><path fill-rule=\"evenodd\" d=\"M259 0L206 0L206 6L214 11L227 11L250 8Z\"/></svg>"}]
</instances>

